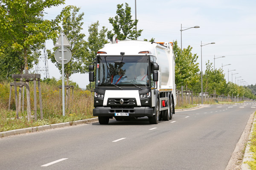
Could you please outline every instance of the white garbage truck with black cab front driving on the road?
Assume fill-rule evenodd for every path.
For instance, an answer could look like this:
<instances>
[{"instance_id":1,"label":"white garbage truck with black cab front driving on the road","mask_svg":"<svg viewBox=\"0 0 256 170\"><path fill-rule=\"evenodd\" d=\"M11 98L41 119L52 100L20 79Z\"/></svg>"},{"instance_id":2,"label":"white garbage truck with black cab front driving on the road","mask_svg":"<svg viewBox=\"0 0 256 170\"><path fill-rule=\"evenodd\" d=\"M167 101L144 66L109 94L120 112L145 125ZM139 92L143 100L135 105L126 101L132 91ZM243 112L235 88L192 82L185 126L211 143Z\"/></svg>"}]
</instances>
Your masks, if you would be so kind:
<instances>
[{"instance_id":1,"label":"white garbage truck with black cab front driving on the road","mask_svg":"<svg viewBox=\"0 0 256 170\"><path fill-rule=\"evenodd\" d=\"M113 43L114 42L114 43ZM172 42L113 41L89 66L95 82L93 116L100 124L147 116L150 124L175 114L175 55Z\"/></svg>"}]
</instances>

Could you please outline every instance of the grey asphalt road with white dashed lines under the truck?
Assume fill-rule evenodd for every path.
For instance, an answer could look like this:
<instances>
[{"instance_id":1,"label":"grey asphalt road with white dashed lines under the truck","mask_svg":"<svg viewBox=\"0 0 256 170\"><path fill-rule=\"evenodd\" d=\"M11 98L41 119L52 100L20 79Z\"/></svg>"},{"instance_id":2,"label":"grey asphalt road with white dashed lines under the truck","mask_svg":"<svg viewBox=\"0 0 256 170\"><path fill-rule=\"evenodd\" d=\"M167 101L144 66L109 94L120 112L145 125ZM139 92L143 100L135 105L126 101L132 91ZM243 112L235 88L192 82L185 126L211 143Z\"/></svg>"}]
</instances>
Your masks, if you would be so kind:
<instances>
[{"instance_id":1,"label":"grey asphalt road with white dashed lines under the truck","mask_svg":"<svg viewBox=\"0 0 256 170\"><path fill-rule=\"evenodd\" d=\"M0 139L0 170L224 170L256 102Z\"/></svg>"}]
</instances>

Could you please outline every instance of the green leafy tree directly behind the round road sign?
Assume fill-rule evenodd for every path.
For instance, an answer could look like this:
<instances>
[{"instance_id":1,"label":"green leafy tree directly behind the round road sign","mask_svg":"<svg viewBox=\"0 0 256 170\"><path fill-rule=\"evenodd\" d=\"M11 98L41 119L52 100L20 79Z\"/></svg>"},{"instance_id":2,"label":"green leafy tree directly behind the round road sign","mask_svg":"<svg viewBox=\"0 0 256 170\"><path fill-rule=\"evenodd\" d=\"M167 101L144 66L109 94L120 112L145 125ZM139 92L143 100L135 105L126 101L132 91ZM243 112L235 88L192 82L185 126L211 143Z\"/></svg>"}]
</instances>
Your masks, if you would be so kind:
<instances>
[{"instance_id":1,"label":"green leafy tree directly behind the round road sign","mask_svg":"<svg viewBox=\"0 0 256 170\"><path fill-rule=\"evenodd\" d=\"M71 12L72 9L72 12ZM58 31L61 32L63 30L64 34L67 36L67 39L70 41L71 47L70 51L72 54L72 58L70 62L64 65L64 74L67 79L67 85L69 85L69 79L72 74L75 73L85 73L85 65L83 61L86 56L86 41L84 40L85 34L80 33L83 25L83 16L84 13L78 14L80 8L76 6L67 6L65 7L61 13L66 12L62 19L62 28L58 27ZM57 38L53 39L53 42L57 41ZM54 48L54 51L57 48ZM54 57L54 52L47 51L48 58L51 62L55 63L56 67L61 72L61 64L56 62Z\"/></svg>"}]
</instances>

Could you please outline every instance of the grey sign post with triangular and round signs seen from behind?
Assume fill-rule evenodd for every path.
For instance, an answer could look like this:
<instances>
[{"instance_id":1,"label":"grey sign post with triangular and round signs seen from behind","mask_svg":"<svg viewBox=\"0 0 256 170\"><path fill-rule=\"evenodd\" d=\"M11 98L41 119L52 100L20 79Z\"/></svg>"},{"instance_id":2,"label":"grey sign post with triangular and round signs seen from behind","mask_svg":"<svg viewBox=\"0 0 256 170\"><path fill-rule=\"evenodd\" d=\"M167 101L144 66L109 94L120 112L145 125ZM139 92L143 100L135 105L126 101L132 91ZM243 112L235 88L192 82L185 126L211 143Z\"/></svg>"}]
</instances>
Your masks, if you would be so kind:
<instances>
[{"instance_id":1,"label":"grey sign post with triangular and round signs seen from behind","mask_svg":"<svg viewBox=\"0 0 256 170\"><path fill-rule=\"evenodd\" d=\"M55 51L55 59L57 62L61 63L61 73L62 73L62 115L65 116L65 79L64 79L64 64L69 62L71 59L71 52L66 47L71 47L70 42L67 40L66 35L63 31L61 31L61 35L58 37L58 40L56 41L55 47L61 47L58 48ZM66 47L64 47L66 46ZM64 54L64 52L69 51L70 53ZM57 53L56 53L57 52ZM61 57L59 57L59 52L61 52Z\"/></svg>"}]
</instances>

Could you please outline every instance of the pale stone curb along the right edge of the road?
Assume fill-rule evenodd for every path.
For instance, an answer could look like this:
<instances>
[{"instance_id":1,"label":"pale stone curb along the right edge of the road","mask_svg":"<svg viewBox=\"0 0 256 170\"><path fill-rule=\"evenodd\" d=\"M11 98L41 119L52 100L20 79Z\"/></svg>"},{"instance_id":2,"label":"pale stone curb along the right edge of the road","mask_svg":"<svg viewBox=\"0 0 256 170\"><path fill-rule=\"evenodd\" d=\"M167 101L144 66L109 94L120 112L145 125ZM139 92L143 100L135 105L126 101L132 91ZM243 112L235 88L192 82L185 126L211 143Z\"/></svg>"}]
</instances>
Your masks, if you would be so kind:
<instances>
[{"instance_id":1,"label":"pale stone curb along the right edge of the road","mask_svg":"<svg viewBox=\"0 0 256 170\"><path fill-rule=\"evenodd\" d=\"M249 139L248 139L248 142L247 142L247 145L246 145L246 148L245 148L245 152L244 152L243 162L241 164L241 170L250 170L251 169L250 166L246 163L246 161L253 161L253 153L250 151L250 142L249 141L252 138L253 127L256 123L255 121L256 121L256 119L255 119L255 116L254 116L253 125L252 125L251 130L250 130L250 136L249 136Z\"/></svg>"}]
</instances>

